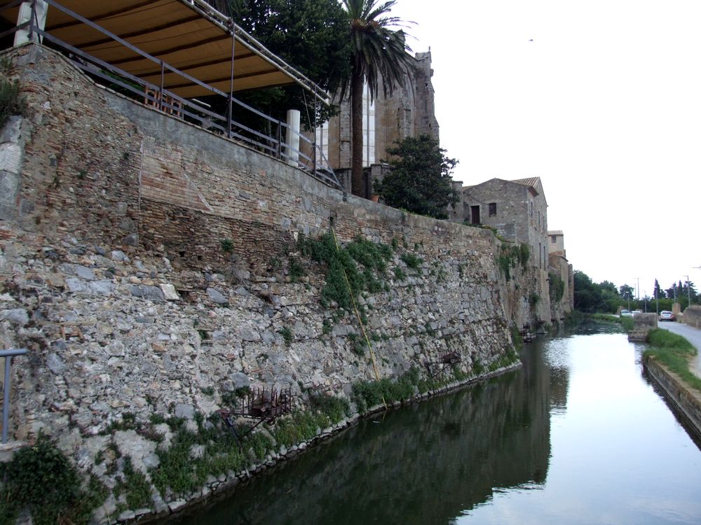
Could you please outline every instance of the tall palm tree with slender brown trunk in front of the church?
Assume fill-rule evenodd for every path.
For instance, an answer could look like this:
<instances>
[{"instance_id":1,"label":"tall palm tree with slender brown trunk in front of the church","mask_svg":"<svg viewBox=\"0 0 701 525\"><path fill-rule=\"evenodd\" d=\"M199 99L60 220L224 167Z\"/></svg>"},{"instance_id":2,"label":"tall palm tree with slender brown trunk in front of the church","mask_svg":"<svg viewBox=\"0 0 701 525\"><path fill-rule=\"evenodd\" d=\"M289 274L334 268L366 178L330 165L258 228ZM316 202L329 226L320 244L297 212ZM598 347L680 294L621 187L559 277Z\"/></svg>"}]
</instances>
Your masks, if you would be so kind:
<instances>
[{"instance_id":1,"label":"tall palm tree with slender brown trunk in front of the church","mask_svg":"<svg viewBox=\"0 0 701 525\"><path fill-rule=\"evenodd\" d=\"M378 5L377 0L343 0L348 11L351 36L351 78L341 85L341 99L351 88L351 191L362 195L362 90L367 84L370 99L381 82L384 94L391 94L413 65L404 31L390 27L405 25L398 17L386 16L397 0Z\"/></svg>"}]
</instances>

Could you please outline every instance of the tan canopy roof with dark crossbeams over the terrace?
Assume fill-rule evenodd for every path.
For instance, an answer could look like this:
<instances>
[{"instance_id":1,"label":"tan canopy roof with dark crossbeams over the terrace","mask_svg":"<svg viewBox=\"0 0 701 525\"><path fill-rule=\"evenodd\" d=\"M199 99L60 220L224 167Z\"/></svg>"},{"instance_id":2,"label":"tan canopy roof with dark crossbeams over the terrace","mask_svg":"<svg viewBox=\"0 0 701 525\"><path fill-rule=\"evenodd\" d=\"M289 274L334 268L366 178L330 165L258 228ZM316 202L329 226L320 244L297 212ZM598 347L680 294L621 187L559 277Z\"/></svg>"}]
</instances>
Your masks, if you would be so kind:
<instances>
[{"instance_id":1,"label":"tan canopy roof with dark crossbeams over the terrace","mask_svg":"<svg viewBox=\"0 0 701 525\"><path fill-rule=\"evenodd\" d=\"M0 6L8 3L10 0L0 0ZM222 92L231 89L233 45L234 91L298 83L325 95L311 80L203 0L48 0L48 3L48 34L154 85L161 85L159 64L62 12L57 4ZM2 14L15 23L17 13L18 9L13 8ZM186 98L212 94L167 68L163 87Z\"/></svg>"}]
</instances>

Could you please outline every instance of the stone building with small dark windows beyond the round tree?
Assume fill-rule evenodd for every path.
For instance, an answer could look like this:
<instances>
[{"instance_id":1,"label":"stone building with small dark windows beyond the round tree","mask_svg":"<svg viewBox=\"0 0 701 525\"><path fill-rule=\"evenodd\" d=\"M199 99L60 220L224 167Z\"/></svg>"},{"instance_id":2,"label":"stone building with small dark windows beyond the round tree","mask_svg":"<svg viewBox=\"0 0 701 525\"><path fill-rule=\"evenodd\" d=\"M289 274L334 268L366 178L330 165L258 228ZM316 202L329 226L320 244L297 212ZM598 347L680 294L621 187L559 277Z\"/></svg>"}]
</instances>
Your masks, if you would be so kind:
<instances>
[{"instance_id":1,"label":"stone building with small dark windows beyond the round tree","mask_svg":"<svg viewBox=\"0 0 701 525\"><path fill-rule=\"evenodd\" d=\"M547 270L547 201L540 177L495 178L463 186L462 193L463 221L491 226L507 241L528 244L533 265Z\"/></svg>"}]
</instances>

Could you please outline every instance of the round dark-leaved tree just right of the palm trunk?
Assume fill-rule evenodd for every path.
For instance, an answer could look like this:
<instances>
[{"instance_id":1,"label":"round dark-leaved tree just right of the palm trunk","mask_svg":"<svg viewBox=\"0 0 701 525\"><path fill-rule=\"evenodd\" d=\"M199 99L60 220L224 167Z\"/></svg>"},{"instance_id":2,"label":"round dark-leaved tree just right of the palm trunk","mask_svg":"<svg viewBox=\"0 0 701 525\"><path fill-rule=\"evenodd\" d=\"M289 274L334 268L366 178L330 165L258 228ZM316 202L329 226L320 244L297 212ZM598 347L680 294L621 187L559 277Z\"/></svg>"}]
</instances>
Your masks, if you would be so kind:
<instances>
[{"instance_id":1,"label":"round dark-leaved tree just right of the palm trunk","mask_svg":"<svg viewBox=\"0 0 701 525\"><path fill-rule=\"evenodd\" d=\"M455 207L460 195L451 186L451 173L458 163L446 157L438 141L421 135L395 141L387 148L393 168L376 184L374 191L395 208L435 218L448 218L447 207Z\"/></svg>"}]
</instances>

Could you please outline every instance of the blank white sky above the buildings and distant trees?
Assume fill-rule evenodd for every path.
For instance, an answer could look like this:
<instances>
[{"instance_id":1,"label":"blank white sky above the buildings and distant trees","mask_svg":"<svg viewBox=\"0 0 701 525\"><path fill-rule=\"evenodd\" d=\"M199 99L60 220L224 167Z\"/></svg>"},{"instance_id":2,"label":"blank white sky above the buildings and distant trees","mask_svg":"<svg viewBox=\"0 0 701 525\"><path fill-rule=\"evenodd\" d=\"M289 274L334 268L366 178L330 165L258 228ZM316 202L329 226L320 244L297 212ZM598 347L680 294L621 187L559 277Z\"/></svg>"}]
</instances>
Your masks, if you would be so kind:
<instances>
[{"instance_id":1,"label":"blank white sky above the buildings and distant trees","mask_svg":"<svg viewBox=\"0 0 701 525\"><path fill-rule=\"evenodd\" d=\"M398 0L454 179L540 176L595 282L701 286L700 0ZM530 39L533 39L531 42Z\"/></svg>"}]
</instances>

